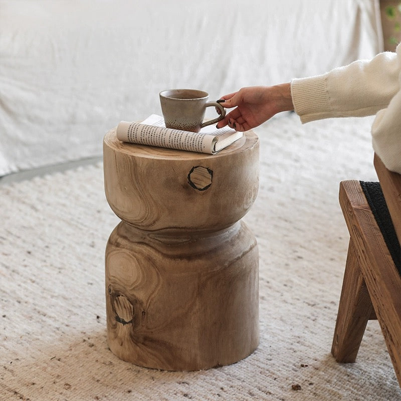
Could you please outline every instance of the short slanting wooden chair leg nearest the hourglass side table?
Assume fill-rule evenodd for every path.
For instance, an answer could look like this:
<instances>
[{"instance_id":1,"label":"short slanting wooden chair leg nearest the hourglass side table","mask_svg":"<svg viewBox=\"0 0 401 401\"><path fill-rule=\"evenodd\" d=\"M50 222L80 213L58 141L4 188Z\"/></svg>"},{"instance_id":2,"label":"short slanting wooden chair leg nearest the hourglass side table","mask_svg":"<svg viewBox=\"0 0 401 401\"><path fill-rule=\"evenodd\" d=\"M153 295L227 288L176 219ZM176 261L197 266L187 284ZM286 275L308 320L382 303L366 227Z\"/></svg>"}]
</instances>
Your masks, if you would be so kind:
<instances>
[{"instance_id":1,"label":"short slanting wooden chair leg nearest the hourglass side table","mask_svg":"<svg viewBox=\"0 0 401 401\"><path fill-rule=\"evenodd\" d=\"M372 310L372 302L350 239L331 347L337 362L355 362Z\"/></svg>"}]
</instances>

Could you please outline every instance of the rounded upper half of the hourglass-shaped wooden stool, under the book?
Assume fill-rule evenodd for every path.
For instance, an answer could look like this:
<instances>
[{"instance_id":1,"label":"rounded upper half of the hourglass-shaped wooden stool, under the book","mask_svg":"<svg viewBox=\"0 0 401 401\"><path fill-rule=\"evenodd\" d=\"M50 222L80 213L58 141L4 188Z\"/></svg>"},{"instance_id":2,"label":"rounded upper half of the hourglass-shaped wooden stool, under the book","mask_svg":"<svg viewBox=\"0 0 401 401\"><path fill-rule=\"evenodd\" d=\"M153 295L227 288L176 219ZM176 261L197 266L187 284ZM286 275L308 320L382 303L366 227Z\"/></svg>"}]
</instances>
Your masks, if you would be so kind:
<instances>
[{"instance_id":1,"label":"rounded upper half of the hourglass-shaped wooden stool, under the book","mask_svg":"<svg viewBox=\"0 0 401 401\"><path fill-rule=\"evenodd\" d=\"M230 227L253 205L259 141L248 131L215 155L103 141L105 192L121 220L148 231Z\"/></svg>"}]
</instances>

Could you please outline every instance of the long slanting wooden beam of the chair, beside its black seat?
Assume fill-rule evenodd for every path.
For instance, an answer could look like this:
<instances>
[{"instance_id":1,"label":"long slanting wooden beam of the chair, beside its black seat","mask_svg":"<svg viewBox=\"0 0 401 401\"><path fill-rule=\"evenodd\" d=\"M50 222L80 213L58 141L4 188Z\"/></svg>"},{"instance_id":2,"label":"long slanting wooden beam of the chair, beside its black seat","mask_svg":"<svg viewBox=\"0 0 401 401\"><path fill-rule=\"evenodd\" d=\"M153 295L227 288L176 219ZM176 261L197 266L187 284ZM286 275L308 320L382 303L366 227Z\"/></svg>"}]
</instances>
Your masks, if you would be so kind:
<instances>
[{"instance_id":1,"label":"long slanting wooden beam of the chair, beside its black seat","mask_svg":"<svg viewBox=\"0 0 401 401\"><path fill-rule=\"evenodd\" d=\"M359 181L341 182L339 198L358 265L401 386L401 278Z\"/></svg>"}]
</instances>

